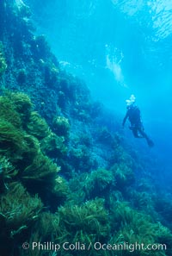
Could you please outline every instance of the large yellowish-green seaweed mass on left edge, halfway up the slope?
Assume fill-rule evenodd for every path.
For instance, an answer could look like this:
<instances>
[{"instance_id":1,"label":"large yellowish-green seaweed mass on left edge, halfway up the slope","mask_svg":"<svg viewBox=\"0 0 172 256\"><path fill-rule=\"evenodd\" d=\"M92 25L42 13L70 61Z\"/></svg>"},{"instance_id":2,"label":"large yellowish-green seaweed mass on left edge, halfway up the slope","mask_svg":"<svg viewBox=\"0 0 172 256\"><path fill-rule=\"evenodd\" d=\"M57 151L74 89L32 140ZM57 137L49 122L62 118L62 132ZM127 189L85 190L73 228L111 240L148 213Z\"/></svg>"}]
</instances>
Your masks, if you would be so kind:
<instances>
[{"instance_id":1,"label":"large yellowish-green seaweed mass on left edge, halfway up the slope","mask_svg":"<svg viewBox=\"0 0 172 256\"><path fill-rule=\"evenodd\" d=\"M14 173L11 178L13 180L19 179L32 193L39 193L39 196L46 203L48 197L57 200L58 203L64 200L64 195L67 191L67 185L64 182L57 183L58 171L60 167L52 162L46 156L41 146L40 141L47 135L52 134L46 121L40 117L37 112L32 111L33 104L30 98L23 93L7 92L0 97L0 153L4 163L9 163L14 166ZM9 111L8 111L9 109ZM56 136L56 144L51 145L52 141L45 140L44 148L53 146L62 150L63 141L58 140ZM42 141L41 141L42 142ZM49 142L49 146L48 146ZM47 144L46 144L47 143ZM51 145L51 146L50 146ZM56 157L58 157L56 155ZM6 160L5 160L6 159ZM2 170L5 170L2 168ZM16 172L17 170L17 172ZM7 173L3 171L1 183L6 184ZM34 186L35 184L35 186ZM57 186L58 184L58 186ZM64 189L64 191L63 191ZM49 195L47 197L47 194Z\"/></svg>"}]
</instances>

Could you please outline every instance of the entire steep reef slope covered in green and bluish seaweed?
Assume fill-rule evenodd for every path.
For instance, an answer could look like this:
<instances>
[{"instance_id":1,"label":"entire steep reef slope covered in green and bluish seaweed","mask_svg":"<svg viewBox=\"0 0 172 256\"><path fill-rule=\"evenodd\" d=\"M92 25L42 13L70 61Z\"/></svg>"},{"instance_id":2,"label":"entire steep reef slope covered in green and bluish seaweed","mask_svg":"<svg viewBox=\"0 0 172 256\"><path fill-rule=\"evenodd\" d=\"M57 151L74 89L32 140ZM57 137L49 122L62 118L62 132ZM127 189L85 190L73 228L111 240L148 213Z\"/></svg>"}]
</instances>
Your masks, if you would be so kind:
<instances>
[{"instance_id":1,"label":"entire steep reef slope covered in green and bluish seaweed","mask_svg":"<svg viewBox=\"0 0 172 256\"><path fill-rule=\"evenodd\" d=\"M0 255L170 256L172 204L146 174L154 163L60 69L25 3L0 11ZM114 248L136 242L167 249Z\"/></svg>"}]
</instances>

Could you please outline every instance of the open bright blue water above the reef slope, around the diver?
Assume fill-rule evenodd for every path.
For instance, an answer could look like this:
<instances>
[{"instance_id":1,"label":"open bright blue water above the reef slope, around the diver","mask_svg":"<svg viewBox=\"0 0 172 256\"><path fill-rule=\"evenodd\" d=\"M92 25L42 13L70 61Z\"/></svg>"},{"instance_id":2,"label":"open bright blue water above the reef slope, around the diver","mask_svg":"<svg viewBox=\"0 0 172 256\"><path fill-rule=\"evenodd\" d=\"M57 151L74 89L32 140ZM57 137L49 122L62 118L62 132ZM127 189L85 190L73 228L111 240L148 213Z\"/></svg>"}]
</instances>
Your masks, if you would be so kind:
<instances>
[{"instance_id":1,"label":"open bright blue water above the reef slope, around the diver","mask_svg":"<svg viewBox=\"0 0 172 256\"><path fill-rule=\"evenodd\" d=\"M172 181L172 2L168 0L32 1L62 68L88 84L121 118L133 93L152 149ZM125 131L124 131L125 133ZM131 134L132 136L132 134Z\"/></svg>"}]
</instances>

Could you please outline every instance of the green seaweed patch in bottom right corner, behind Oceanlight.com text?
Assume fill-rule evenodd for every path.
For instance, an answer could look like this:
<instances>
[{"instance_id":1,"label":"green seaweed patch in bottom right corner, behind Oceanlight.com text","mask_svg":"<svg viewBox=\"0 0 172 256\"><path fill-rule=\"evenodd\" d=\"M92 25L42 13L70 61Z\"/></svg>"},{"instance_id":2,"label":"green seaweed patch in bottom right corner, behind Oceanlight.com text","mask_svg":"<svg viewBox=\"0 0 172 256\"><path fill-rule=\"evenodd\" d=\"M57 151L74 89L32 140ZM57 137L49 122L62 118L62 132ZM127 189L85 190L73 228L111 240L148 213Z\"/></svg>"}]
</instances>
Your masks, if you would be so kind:
<instances>
[{"instance_id":1,"label":"green seaweed patch in bottom right corner, behind Oceanlight.com text","mask_svg":"<svg viewBox=\"0 0 172 256\"><path fill-rule=\"evenodd\" d=\"M163 227L160 222L154 222L151 215L146 215L132 209L128 203L116 202L111 212L111 222L114 223L114 235L111 244L134 245L136 242L144 247L158 243L166 244L172 242L172 234L168 228ZM133 255L152 255L152 251L133 250ZM117 251L116 255L131 255L130 250ZM155 251L155 255L169 255L168 251Z\"/></svg>"}]
</instances>

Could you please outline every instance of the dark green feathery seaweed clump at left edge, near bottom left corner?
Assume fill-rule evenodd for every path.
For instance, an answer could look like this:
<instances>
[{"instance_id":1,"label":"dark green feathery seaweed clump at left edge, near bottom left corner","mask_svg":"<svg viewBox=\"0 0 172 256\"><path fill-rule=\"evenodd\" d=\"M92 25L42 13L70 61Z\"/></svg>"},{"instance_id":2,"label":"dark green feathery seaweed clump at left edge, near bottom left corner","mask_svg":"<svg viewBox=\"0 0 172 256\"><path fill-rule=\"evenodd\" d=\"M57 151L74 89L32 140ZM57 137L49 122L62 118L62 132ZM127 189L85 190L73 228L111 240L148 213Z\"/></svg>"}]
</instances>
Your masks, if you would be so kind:
<instances>
[{"instance_id":1,"label":"dark green feathery seaweed clump at left edge, near bottom left corner","mask_svg":"<svg viewBox=\"0 0 172 256\"><path fill-rule=\"evenodd\" d=\"M38 217L42 206L40 198L37 195L30 197L22 184L9 184L9 189L0 197L0 215L5 223L5 234L13 236L22 228L28 228ZM1 229L1 235L4 230Z\"/></svg>"}]
</instances>

